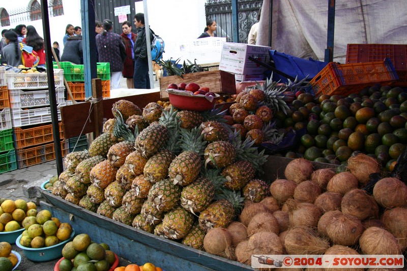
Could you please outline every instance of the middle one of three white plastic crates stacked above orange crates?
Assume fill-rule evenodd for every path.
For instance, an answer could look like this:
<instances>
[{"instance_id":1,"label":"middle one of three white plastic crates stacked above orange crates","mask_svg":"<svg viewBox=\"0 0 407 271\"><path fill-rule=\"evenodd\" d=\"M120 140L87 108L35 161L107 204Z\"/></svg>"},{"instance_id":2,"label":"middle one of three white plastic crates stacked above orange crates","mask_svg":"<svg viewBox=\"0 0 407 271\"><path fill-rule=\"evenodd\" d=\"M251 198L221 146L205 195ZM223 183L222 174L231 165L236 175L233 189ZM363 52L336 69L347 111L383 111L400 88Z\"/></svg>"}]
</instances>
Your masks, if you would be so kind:
<instances>
[{"instance_id":1,"label":"middle one of three white plastic crates stacked above orange crates","mask_svg":"<svg viewBox=\"0 0 407 271\"><path fill-rule=\"evenodd\" d=\"M55 87L56 103L65 102L65 86ZM21 89L10 89L9 99L11 108L39 107L49 105L48 89L43 91L22 91Z\"/></svg>"}]
</instances>

